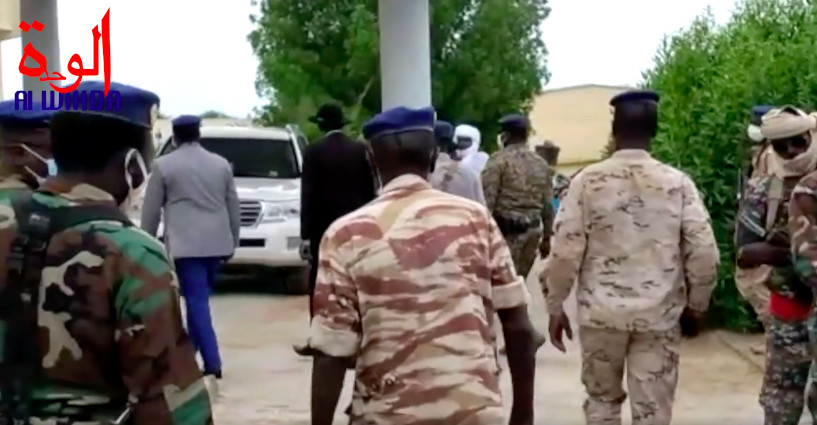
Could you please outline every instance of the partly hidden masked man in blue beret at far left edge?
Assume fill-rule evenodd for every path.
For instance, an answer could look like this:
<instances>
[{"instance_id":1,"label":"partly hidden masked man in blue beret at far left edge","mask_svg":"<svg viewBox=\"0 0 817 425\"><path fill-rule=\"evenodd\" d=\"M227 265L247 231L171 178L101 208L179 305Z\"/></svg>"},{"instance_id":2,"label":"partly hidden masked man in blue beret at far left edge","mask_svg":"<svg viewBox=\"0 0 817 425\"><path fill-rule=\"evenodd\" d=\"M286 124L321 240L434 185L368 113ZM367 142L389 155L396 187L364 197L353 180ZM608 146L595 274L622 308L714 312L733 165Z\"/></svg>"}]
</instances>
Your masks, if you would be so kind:
<instances>
[{"instance_id":1,"label":"partly hidden masked man in blue beret at far left edge","mask_svg":"<svg viewBox=\"0 0 817 425\"><path fill-rule=\"evenodd\" d=\"M48 135L53 114L39 102L25 111L16 110L14 100L0 102L0 200L35 189L56 173Z\"/></svg>"}]
</instances>

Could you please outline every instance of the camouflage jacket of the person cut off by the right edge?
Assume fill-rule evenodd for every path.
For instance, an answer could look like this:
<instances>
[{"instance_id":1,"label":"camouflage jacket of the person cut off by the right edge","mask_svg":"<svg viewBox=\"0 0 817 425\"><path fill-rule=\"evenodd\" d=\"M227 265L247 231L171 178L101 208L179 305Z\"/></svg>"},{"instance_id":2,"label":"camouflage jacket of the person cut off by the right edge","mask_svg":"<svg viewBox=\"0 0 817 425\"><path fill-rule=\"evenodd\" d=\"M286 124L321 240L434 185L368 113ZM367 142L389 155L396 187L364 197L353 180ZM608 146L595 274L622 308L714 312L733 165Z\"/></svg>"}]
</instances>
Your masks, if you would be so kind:
<instances>
[{"instance_id":1,"label":"camouflage jacket of the person cut off by the right edge","mask_svg":"<svg viewBox=\"0 0 817 425\"><path fill-rule=\"evenodd\" d=\"M817 171L795 186L789 203L794 271L803 285L817 291Z\"/></svg>"}]
</instances>

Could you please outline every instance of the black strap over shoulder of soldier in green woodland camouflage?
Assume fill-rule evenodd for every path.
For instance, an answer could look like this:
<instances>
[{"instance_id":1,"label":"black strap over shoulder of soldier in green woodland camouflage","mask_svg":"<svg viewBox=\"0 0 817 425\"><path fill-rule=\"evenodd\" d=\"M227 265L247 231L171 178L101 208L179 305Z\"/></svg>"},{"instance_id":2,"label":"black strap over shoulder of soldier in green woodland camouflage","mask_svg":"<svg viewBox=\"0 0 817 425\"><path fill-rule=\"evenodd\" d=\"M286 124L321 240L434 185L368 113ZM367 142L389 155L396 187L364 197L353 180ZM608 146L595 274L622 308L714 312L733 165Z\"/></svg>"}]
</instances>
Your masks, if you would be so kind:
<instances>
[{"instance_id":1,"label":"black strap over shoulder of soldier in green woodland camouflage","mask_svg":"<svg viewBox=\"0 0 817 425\"><path fill-rule=\"evenodd\" d=\"M133 224L116 208L80 205L52 208L34 200L33 193L12 199L17 234L7 259L6 288L0 293L0 309L7 317L0 362L0 418L27 424L30 401L41 358L37 338L37 312L46 253L51 237L90 221Z\"/></svg>"}]
</instances>

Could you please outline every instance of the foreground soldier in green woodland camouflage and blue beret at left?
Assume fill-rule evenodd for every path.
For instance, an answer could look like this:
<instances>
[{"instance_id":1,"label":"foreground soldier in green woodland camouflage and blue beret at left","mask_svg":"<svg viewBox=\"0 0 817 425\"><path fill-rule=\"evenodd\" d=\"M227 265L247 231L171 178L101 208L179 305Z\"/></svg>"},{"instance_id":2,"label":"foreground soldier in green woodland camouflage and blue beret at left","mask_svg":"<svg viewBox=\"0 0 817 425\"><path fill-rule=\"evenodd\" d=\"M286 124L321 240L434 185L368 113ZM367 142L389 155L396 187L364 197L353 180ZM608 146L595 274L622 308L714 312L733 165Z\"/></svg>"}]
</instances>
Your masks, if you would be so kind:
<instances>
[{"instance_id":1,"label":"foreground soldier in green woodland camouflage and blue beret at left","mask_svg":"<svg viewBox=\"0 0 817 425\"><path fill-rule=\"evenodd\" d=\"M52 118L58 176L0 202L0 423L212 424L171 262L120 212L159 98L111 89L115 114Z\"/></svg>"}]
</instances>

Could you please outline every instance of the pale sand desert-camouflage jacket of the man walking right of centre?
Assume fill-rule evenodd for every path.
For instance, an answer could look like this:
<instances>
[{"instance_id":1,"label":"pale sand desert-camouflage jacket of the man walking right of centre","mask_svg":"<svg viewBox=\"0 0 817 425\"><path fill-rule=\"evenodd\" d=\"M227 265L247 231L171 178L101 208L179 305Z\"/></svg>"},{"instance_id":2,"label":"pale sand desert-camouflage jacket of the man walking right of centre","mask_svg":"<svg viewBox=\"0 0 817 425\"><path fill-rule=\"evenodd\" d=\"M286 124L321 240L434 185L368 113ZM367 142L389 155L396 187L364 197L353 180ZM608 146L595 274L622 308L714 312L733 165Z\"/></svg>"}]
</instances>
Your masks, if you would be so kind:
<instances>
[{"instance_id":1,"label":"pale sand desert-camouflage jacket of the man walking right of centre","mask_svg":"<svg viewBox=\"0 0 817 425\"><path fill-rule=\"evenodd\" d=\"M556 217L545 285L559 314L578 282L582 326L664 331L705 311L718 248L692 179L641 150L621 150L573 177Z\"/></svg>"}]
</instances>

